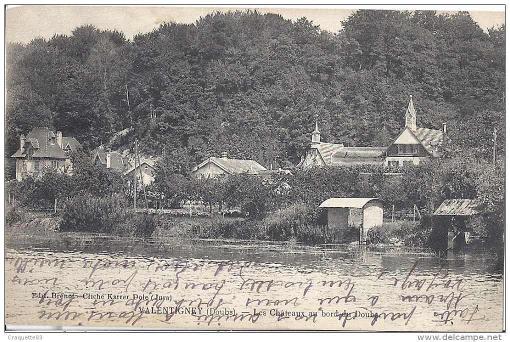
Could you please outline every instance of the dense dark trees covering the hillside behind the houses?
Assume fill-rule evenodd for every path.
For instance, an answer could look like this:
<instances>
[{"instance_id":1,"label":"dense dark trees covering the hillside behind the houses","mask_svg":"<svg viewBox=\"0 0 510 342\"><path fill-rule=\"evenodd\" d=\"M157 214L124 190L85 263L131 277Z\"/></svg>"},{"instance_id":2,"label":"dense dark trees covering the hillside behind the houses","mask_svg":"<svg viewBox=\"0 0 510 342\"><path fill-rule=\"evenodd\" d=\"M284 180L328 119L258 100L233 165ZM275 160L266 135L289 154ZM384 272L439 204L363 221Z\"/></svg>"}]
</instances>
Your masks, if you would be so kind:
<instances>
[{"instance_id":1,"label":"dense dark trees covering the hillside behind the houses","mask_svg":"<svg viewBox=\"0 0 510 342\"><path fill-rule=\"evenodd\" d=\"M361 10L343 26L217 12L132 41L82 26L8 44L6 156L35 126L88 148L132 128L115 148L138 138L144 153L185 151L192 163L226 151L291 166L316 115L323 141L387 145L410 94L418 125L448 122L452 150L490 158L498 128L504 153L504 25L486 33L465 12Z\"/></svg>"}]
</instances>

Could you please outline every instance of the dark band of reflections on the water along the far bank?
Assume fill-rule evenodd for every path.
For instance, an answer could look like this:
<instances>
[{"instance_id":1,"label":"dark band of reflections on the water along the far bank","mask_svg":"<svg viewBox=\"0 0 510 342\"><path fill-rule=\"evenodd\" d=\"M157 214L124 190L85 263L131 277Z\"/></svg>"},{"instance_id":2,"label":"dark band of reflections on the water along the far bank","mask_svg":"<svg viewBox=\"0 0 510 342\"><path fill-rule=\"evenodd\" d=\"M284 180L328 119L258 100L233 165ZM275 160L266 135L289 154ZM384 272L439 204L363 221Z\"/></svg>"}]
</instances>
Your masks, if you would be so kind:
<instances>
[{"instance_id":1,"label":"dark band of reflections on the water along the far bank","mask_svg":"<svg viewBox=\"0 0 510 342\"><path fill-rule=\"evenodd\" d=\"M452 259L438 258L419 249L371 246L286 246L279 242L191 240L156 241L153 239L115 239L103 235L73 236L67 233L57 243L12 240L9 245L25 251L82 252L143 258L199 259L215 261L257 261L314 269L341 270L347 274L375 274L407 271L417 260L415 272L430 274L447 269L453 274L488 273L502 276L498 258L489 253L459 254ZM49 245L49 246L48 246Z\"/></svg>"}]
</instances>

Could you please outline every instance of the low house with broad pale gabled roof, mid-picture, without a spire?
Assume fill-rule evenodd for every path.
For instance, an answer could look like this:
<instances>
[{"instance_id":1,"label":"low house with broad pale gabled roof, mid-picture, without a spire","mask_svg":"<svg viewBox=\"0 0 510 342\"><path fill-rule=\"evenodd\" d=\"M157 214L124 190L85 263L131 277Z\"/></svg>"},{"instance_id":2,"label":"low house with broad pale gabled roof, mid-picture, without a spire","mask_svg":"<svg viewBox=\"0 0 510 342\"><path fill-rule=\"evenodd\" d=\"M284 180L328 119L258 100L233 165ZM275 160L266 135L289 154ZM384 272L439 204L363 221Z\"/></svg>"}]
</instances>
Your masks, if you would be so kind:
<instances>
[{"instance_id":1,"label":"low house with broad pale gabled roof, mid-picture, without a spire","mask_svg":"<svg viewBox=\"0 0 510 342\"><path fill-rule=\"evenodd\" d=\"M250 159L227 158L223 152L221 158L209 157L193 168L193 175L197 178L215 177L218 175L241 175L249 174L267 178L270 173L277 170L268 170L258 162Z\"/></svg>"}]
</instances>

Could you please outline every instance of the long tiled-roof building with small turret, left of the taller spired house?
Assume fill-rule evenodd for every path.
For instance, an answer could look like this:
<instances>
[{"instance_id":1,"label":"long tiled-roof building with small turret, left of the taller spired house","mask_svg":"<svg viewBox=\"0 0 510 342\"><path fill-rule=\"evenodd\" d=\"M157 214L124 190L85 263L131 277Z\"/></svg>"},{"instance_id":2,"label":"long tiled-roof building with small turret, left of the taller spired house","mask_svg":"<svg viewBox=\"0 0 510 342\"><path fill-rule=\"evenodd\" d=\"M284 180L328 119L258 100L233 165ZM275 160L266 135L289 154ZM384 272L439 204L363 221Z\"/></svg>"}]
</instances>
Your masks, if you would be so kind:
<instances>
[{"instance_id":1,"label":"long tiled-roof building with small turret, left of the taller spired house","mask_svg":"<svg viewBox=\"0 0 510 342\"><path fill-rule=\"evenodd\" d=\"M298 167L382 165L383 147L345 147L343 144L322 143L318 120L312 132L312 143Z\"/></svg>"}]
</instances>

